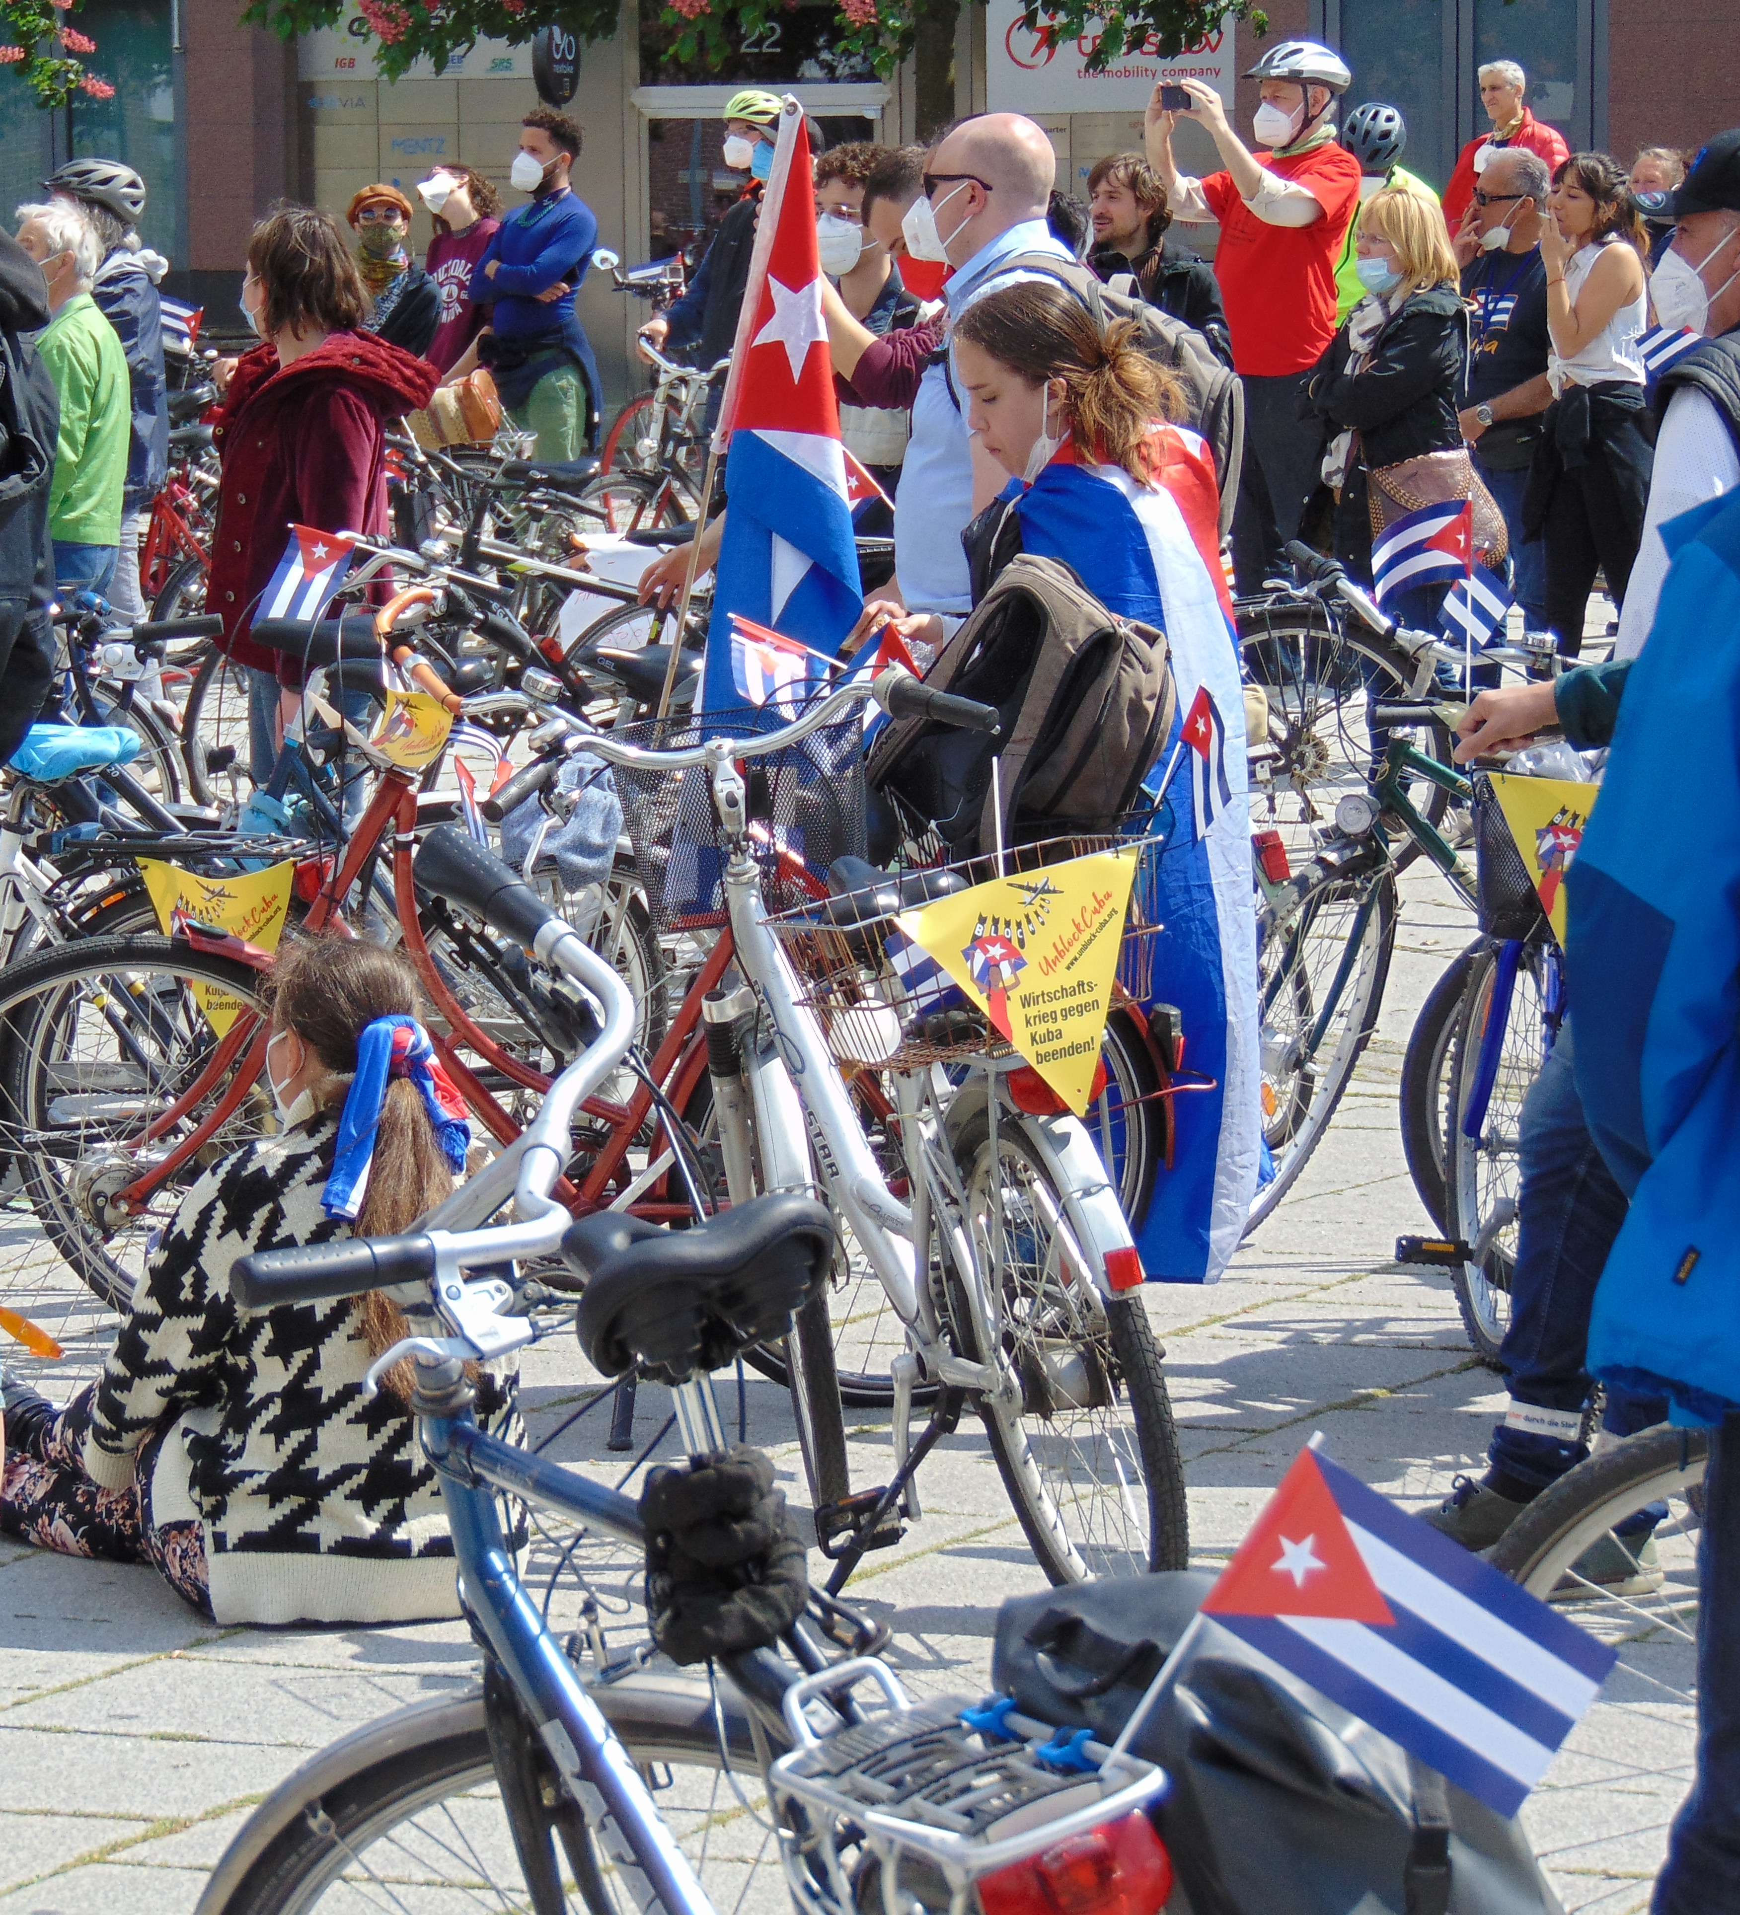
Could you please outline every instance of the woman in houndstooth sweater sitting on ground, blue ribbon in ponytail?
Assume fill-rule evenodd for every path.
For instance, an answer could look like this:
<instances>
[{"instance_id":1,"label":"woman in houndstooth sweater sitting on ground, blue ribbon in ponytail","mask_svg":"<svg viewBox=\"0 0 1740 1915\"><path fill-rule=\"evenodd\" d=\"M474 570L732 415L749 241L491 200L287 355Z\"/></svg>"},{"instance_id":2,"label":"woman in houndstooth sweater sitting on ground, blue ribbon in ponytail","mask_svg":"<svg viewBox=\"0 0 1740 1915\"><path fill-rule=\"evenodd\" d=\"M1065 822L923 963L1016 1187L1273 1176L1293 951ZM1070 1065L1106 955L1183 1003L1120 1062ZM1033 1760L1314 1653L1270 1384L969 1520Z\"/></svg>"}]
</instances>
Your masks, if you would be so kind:
<instances>
[{"instance_id":1,"label":"woman in houndstooth sweater sitting on ground, blue ribbon in ponytail","mask_svg":"<svg viewBox=\"0 0 1740 1915\"><path fill-rule=\"evenodd\" d=\"M102 1377L56 1408L4 1383L0 1530L146 1561L217 1622L458 1614L452 1540L410 1415L385 1293L243 1310L253 1250L408 1229L464 1170L464 1105L418 1023L416 975L376 944L307 938L266 977L272 1136L213 1164L151 1256ZM512 1377L477 1413L512 1423Z\"/></svg>"}]
</instances>

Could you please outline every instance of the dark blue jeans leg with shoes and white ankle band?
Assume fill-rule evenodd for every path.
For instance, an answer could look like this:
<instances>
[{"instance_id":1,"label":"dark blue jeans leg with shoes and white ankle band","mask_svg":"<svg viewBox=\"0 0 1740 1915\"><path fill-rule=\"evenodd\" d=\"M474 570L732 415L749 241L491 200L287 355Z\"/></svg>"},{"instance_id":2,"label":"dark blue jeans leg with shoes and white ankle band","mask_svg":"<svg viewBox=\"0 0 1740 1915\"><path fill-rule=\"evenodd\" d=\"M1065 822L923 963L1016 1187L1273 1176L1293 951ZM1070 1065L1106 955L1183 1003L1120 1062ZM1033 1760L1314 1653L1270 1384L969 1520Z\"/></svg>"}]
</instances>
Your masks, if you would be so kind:
<instances>
[{"instance_id":1,"label":"dark blue jeans leg with shoes and white ankle band","mask_svg":"<svg viewBox=\"0 0 1740 1915\"><path fill-rule=\"evenodd\" d=\"M1589 1312L1627 1210L1583 1120L1571 1059L1566 1019L1522 1109L1510 1329L1499 1348L1510 1411L1487 1450L1487 1482L1520 1503L1589 1455L1579 1442L1591 1388L1583 1367ZM1608 1390L1606 1429L1615 1436L1665 1417L1660 1398Z\"/></svg>"}]
</instances>

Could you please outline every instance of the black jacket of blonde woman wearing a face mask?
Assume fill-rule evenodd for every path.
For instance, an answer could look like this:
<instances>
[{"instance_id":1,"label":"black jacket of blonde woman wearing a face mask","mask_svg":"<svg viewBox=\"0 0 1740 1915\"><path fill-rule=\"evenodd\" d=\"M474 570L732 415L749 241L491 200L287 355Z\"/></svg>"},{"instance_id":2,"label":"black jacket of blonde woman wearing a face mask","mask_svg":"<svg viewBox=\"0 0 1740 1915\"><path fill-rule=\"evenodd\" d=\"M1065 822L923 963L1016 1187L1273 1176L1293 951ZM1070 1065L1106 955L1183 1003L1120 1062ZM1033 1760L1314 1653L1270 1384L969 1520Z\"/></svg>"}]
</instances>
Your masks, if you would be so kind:
<instances>
[{"instance_id":1,"label":"black jacket of blonde woman wearing a face mask","mask_svg":"<svg viewBox=\"0 0 1740 1915\"><path fill-rule=\"evenodd\" d=\"M1343 326L1307 387L1309 404L1324 419L1324 440L1351 427L1366 471L1462 444L1456 394L1468 358L1468 310L1454 287L1435 285L1405 299L1372 341L1364 372L1349 372L1351 358Z\"/></svg>"}]
</instances>

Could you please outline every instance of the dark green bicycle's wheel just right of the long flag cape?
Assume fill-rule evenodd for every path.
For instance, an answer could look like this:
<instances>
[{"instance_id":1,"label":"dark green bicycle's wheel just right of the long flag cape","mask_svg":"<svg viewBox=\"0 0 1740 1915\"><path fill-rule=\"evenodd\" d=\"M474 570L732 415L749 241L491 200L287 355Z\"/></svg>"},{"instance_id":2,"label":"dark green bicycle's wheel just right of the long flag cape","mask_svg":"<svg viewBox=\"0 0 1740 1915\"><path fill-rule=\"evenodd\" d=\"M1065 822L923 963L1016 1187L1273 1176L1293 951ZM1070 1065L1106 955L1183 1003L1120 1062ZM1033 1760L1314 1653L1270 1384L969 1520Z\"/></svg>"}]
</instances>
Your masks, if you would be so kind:
<instances>
[{"instance_id":1,"label":"dark green bicycle's wheel just right of the long flag cape","mask_svg":"<svg viewBox=\"0 0 1740 1915\"><path fill-rule=\"evenodd\" d=\"M1372 896L1372 910L1361 935L1362 956L1357 959L1357 973L1349 979L1351 994L1343 988L1332 1007L1339 1019L1339 1030L1328 1067L1318 1072L1313 1065L1303 1065L1295 1076L1284 1074L1280 1065L1294 1061L1299 1038L1315 1028L1322 1015L1318 998L1324 990L1322 971L1328 967L1318 967L1316 988L1313 988L1313 933L1334 910L1353 906L1357 915L1366 894ZM1397 915L1393 869L1384 869L1376 877L1338 877L1326 871L1305 890L1295 908L1288 910L1284 917L1272 919L1271 929L1261 935L1257 986L1263 1015L1263 1134L1274 1176L1259 1187L1251 1203L1246 1235L1257 1229L1299 1182L1299 1174L1341 1103L1355 1065L1372 1040L1378 1013L1384 1009ZM1261 927L1263 913L1259 910L1259 933ZM1326 954L1334 954L1334 950L1336 942L1330 940ZM1334 982L1334 971L1328 971L1328 982ZM1320 1055L1328 1038L1330 1028L1326 1026L1313 1057Z\"/></svg>"}]
</instances>

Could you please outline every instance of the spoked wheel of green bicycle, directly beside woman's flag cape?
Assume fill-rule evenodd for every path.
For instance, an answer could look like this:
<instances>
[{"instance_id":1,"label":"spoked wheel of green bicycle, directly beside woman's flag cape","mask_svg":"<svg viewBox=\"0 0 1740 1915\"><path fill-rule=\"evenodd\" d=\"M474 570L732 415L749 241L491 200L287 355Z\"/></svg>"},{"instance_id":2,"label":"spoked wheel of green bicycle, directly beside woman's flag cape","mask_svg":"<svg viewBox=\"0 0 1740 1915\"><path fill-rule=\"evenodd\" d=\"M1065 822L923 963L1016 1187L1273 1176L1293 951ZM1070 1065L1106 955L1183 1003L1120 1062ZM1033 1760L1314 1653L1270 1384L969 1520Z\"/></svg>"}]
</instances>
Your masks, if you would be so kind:
<instances>
[{"instance_id":1,"label":"spoked wheel of green bicycle, directly beside woman's flag cape","mask_svg":"<svg viewBox=\"0 0 1740 1915\"><path fill-rule=\"evenodd\" d=\"M1263 1143L1274 1176L1246 1233L1299 1180L1378 1026L1395 950L1395 875L1324 873L1297 906L1257 910Z\"/></svg>"}]
</instances>

